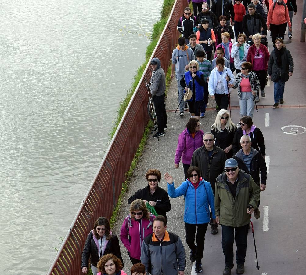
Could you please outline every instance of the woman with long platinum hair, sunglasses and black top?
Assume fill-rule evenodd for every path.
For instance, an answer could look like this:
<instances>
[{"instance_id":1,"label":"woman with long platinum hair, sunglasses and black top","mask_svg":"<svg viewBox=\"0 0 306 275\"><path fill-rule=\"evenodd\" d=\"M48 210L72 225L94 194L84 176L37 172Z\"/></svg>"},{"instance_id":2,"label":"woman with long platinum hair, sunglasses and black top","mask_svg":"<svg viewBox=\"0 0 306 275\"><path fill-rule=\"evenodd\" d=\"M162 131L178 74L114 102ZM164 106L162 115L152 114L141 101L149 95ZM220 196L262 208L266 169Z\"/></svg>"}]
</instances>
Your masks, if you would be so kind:
<instances>
[{"instance_id":1,"label":"woman with long platinum hair, sunglasses and black top","mask_svg":"<svg viewBox=\"0 0 306 275\"><path fill-rule=\"evenodd\" d=\"M211 133L215 136L215 145L222 148L226 153L226 158L233 156L233 138L237 130L236 125L230 118L230 113L221 109L215 123L211 125Z\"/></svg>"}]
</instances>

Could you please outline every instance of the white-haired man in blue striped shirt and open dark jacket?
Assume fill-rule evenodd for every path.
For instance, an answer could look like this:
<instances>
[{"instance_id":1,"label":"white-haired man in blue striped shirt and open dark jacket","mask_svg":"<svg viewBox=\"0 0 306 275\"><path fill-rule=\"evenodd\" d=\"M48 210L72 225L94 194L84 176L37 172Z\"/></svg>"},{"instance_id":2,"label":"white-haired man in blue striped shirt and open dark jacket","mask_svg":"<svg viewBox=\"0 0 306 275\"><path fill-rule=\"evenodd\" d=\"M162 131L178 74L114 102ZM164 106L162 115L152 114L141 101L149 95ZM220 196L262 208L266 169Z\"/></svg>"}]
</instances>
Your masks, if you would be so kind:
<instances>
[{"instance_id":1,"label":"white-haired man in blue striped shirt and open dark jacket","mask_svg":"<svg viewBox=\"0 0 306 275\"><path fill-rule=\"evenodd\" d=\"M240 169L244 170L246 173L250 174L255 181L256 185L260 187L260 190L263 191L266 189L267 183L267 166L266 162L263 159L263 156L256 150L251 147L252 141L248 135L243 135L240 139L241 150L233 157L238 162ZM259 185L259 172L261 176L261 183ZM254 210L254 216L256 219L259 219L259 201L257 208Z\"/></svg>"}]
</instances>

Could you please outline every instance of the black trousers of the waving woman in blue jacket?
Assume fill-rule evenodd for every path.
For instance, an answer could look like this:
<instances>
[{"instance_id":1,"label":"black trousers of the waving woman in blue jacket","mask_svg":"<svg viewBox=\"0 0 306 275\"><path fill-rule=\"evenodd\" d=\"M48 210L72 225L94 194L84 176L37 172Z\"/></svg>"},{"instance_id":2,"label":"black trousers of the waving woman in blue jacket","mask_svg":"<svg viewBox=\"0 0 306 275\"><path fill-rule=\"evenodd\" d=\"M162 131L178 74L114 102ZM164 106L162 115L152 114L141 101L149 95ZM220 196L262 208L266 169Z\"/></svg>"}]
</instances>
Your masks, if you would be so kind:
<instances>
[{"instance_id":1,"label":"black trousers of the waving woman in blue jacket","mask_svg":"<svg viewBox=\"0 0 306 275\"><path fill-rule=\"evenodd\" d=\"M186 243L189 248L193 251L196 250L196 262L201 262L204 252L205 233L207 230L208 223L191 224L185 223L186 230ZM196 231L196 227L198 227ZM196 245L194 238L196 235Z\"/></svg>"}]
</instances>

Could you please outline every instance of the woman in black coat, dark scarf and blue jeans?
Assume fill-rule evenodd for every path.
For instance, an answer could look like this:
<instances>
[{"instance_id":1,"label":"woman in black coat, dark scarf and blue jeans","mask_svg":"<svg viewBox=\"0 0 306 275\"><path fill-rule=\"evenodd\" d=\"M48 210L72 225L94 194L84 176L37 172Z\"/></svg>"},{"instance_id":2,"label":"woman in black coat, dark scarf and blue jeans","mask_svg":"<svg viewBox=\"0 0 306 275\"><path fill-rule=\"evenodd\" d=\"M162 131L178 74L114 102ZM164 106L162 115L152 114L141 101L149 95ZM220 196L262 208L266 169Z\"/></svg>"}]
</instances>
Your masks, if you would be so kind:
<instances>
[{"instance_id":1,"label":"woman in black coat, dark scarf and blue jeans","mask_svg":"<svg viewBox=\"0 0 306 275\"><path fill-rule=\"evenodd\" d=\"M279 103L283 104L285 82L293 73L293 58L289 50L285 47L282 38L276 38L275 48L271 52L268 63L268 74L274 82L274 105L276 108Z\"/></svg>"}]
</instances>

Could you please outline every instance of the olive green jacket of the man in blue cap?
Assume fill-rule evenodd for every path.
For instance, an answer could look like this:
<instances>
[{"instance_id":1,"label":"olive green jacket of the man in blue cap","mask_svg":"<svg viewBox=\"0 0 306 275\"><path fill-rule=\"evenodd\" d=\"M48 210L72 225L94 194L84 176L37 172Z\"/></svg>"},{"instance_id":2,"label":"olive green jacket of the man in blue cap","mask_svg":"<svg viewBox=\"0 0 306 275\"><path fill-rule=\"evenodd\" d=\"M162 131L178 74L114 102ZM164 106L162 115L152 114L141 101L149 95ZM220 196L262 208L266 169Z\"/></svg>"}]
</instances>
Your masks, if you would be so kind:
<instances>
[{"instance_id":1,"label":"olive green jacket of the man in blue cap","mask_svg":"<svg viewBox=\"0 0 306 275\"><path fill-rule=\"evenodd\" d=\"M223 225L231 227L246 225L250 222L250 214L247 213L248 204L256 209L260 188L249 174L240 169L234 199L226 180L226 172L219 175L216 180L215 215L219 216Z\"/></svg>"}]
</instances>

